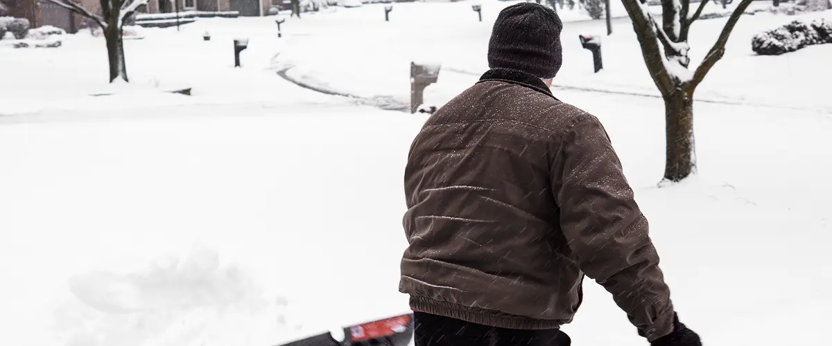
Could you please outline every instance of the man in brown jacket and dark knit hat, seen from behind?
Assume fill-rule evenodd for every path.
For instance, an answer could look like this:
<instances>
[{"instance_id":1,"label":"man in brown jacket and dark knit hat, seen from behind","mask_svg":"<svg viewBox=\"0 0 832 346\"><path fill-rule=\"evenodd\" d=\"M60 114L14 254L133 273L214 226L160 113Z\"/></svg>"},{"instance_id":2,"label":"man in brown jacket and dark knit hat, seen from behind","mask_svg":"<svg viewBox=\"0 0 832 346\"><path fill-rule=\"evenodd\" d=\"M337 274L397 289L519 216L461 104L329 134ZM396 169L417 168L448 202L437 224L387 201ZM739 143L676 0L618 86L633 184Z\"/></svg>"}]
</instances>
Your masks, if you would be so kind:
<instances>
[{"instance_id":1,"label":"man in brown jacket and dark knit hat, seen from behind","mask_svg":"<svg viewBox=\"0 0 832 346\"><path fill-rule=\"evenodd\" d=\"M701 344L676 318L605 129L549 90L561 30L547 7L504 9L491 70L414 139L399 290L417 346L566 346L585 274L652 345Z\"/></svg>"}]
</instances>

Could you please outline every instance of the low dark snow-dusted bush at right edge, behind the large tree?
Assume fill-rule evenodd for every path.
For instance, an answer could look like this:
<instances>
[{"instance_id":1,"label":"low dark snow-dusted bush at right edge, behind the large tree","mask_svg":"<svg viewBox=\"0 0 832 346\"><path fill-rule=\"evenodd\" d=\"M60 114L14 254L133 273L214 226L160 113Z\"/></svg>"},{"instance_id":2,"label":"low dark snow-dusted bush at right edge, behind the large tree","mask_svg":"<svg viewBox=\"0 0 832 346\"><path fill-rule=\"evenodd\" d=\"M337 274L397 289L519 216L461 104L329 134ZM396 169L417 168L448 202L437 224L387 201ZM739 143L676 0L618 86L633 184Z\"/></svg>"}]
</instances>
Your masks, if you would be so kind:
<instances>
[{"instance_id":1,"label":"low dark snow-dusted bush at right edge, behind the large tree","mask_svg":"<svg viewBox=\"0 0 832 346\"><path fill-rule=\"evenodd\" d=\"M797 20L751 39L751 49L761 56L777 56L800 48L832 43L832 22Z\"/></svg>"}]
</instances>

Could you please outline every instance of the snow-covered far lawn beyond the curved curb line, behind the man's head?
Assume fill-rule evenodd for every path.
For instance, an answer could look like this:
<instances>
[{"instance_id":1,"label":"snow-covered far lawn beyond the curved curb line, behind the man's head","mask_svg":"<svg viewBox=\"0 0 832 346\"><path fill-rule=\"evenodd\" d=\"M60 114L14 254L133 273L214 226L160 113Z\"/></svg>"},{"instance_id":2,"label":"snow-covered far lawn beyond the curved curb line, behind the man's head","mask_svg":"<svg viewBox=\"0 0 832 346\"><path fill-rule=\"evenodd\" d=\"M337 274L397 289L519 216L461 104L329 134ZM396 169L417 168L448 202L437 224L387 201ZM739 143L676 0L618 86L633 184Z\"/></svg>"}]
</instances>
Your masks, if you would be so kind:
<instances>
[{"instance_id":1,"label":"snow-covered far lawn beyond the curved curb line, behind the man's head","mask_svg":"<svg viewBox=\"0 0 832 346\"><path fill-rule=\"evenodd\" d=\"M324 30L330 22L343 24L338 26L339 30L325 29L330 30L326 35L286 41L276 60L294 65L288 74L310 84L326 85L354 95L394 95L400 100L409 98L410 61L441 62L443 72L438 85L431 87L443 89L443 92L434 92L432 100L441 105L461 90L454 82L443 85L446 76L453 73L479 76L488 69L486 50L490 28L498 6L504 3L486 4L493 7L485 7L483 22L465 19L473 14L468 13L471 10L466 2L438 4L437 7L442 6L441 12L431 7L409 7L406 13L394 10L391 14L398 17L389 23L365 21L360 26L354 25L349 21L353 17L349 16L357 20L360 15L348 16L344 12L321 14L296 24L290 22L286 30L298 32ZM753 4L761 5L760 2ZM721 11L716 4L706 9ZM359 11L381 10L366 7ZM751 37L757 32L798 18L819 17L830 19L832 12L800 16L763 12L742 17L730 37L726 56L711 70L696 96L730 103L832 110L832 103L826 97L828 93L817 80L817 76L832 76L832 64L827 61L827 56L832 55L832 45L812 46L783 56L756 56L750 49ZM711 49L725 22L726 18L700 20L691 27L693 66ZM592 54L580 45L577 36L581 34L602 37L604 70L598 74L592 73ZM562 45L564 61L554 80L556 85L658 95L628 19L617 20L610 37L606 36L603 21L567 22ZM367 82L355 83L356 80Z\"/></svg>"}]
</instances>

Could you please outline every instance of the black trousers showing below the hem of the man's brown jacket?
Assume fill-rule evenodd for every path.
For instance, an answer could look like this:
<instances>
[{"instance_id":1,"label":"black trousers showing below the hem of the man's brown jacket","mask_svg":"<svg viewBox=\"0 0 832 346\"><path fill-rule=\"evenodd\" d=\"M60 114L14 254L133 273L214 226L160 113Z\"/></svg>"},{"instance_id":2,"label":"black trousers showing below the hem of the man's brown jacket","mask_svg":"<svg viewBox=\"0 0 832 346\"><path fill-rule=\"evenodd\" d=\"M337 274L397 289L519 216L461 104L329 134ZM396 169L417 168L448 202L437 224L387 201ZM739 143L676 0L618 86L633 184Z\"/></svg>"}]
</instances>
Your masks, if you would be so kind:
<instances>
[{"instance_id":1,"label":"black trousers showing below the hem of the man's brown jacket","mask_svg":"<svg viewBox=\"0 0 832 346\"><path fill-rule=\"evenodd\" d=\"M505 329L414 312L416 346L569 346L558 329Z\"/></svg>"}]
</instances>

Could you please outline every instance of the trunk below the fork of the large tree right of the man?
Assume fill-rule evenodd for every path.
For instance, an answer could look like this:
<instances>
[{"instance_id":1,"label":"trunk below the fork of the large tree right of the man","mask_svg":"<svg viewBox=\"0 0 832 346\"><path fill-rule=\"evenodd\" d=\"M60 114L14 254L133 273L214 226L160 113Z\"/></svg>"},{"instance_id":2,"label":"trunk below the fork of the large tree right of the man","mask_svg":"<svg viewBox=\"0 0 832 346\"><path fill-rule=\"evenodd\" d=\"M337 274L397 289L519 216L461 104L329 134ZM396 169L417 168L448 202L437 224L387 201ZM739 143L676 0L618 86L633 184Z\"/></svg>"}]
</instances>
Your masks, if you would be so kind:
<instances>
[{"instance_id":1,"label":"trunk below the fork of the large tree right of the man","mask_svg":"<svg viewBox=\"0 0 832 346\"><path fill-rule=\"evenodd\" d=\"M666 95L665 179L679 182L696 172L693 137L693 90Z\"/></svg>"}]
</instances>

